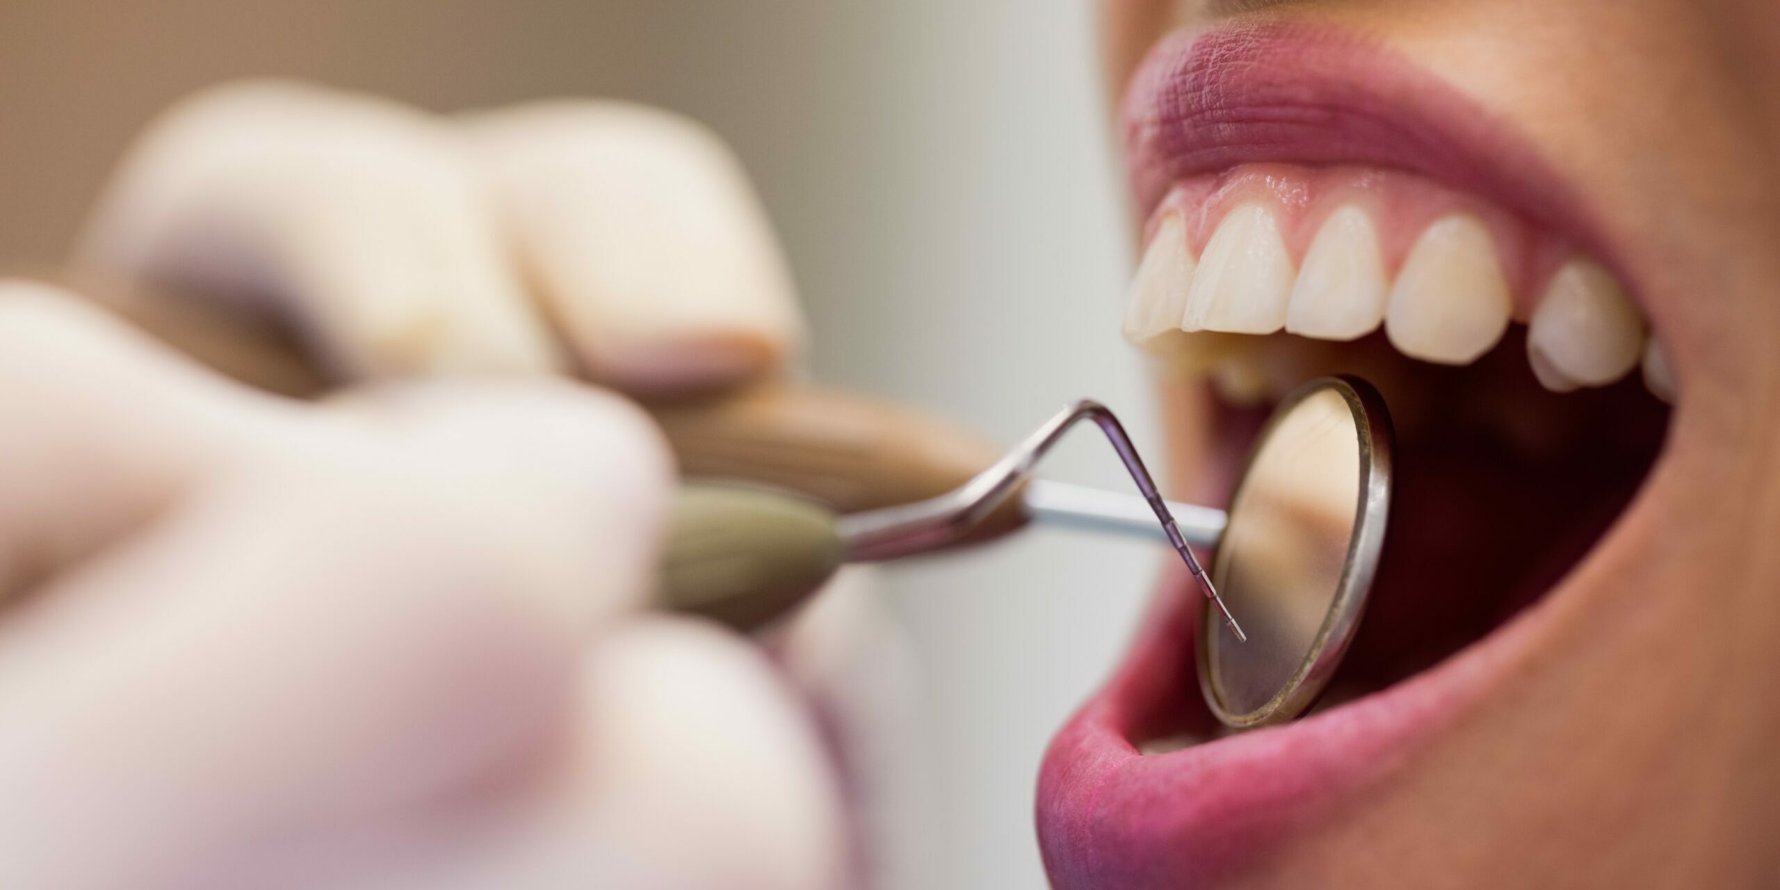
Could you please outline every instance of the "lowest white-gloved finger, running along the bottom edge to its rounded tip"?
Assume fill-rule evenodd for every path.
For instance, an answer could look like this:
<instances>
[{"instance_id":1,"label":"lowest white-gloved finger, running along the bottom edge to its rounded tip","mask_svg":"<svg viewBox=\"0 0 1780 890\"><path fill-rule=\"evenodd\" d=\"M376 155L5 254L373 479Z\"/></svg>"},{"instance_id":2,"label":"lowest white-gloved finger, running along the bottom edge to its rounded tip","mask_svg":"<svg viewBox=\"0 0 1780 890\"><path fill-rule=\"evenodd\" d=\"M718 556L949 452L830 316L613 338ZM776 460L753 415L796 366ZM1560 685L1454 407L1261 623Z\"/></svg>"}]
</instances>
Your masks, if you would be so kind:
<instances>
[{"instance_id":1,"label":"lowest white-gloved finger, running along the bottom edge to its rounded tip","mask_svg":"<svg viewBox=\"0 0 1780 890\"><path fill-rule=\"evenodd\" d=\"M294 888L853 886L815 724L756 648L708 625L614 627L584 659L552 744L477 790L452 810L239 862L222 883L271 872ZM354 856L363 837L399 840Z\"/></svg>"}]
</instances>

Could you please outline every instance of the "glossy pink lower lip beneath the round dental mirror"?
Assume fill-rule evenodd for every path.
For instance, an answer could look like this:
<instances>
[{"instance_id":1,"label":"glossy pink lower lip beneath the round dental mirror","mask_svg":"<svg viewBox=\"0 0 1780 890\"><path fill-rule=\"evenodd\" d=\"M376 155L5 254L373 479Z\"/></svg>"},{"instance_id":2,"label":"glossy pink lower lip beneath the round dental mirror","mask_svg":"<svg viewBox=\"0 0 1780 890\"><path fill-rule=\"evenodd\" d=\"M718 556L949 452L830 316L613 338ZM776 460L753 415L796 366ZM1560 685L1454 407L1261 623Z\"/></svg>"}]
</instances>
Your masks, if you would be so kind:
<instances>
[{"instance_id":1,"label":"glossy pink lower lip beneath the round dental mirror","mask_svg":"<svg viewBox=\"0 0 1780 890\"><path fill-rule=\"evenodd\" d=\"M1171 573L1130 657L1052 740L1038 829L1056 886L1178 888L1253 865L1461 712L1497 653L1527 632L1531 612L1385 692L1292 724L1145 755L1150 739L1212 732L1194 680L1202 616L1185 573Z\"/></svg>"}]
</instances>

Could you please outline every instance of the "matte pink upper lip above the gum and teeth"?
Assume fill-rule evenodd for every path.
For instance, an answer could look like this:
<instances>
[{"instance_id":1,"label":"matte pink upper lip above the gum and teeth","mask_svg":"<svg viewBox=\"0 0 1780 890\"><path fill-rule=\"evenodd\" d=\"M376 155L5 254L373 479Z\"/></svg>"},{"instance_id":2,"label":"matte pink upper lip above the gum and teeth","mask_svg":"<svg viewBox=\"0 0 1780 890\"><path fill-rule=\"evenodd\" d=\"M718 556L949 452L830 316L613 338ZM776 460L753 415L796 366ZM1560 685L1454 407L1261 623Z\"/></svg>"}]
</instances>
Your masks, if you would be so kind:
<instances>
[{"instance_id":1,"label":"matte pink upper lip above the gum and teeth","mask_svg":"<svg viewBox=\"0 0 1780 890\"><path fill-rule=\"evenodd\" d=\"M1196 173L1372 164L1486 196L1613 260L1566 183L1493 114L1351 34L1244 25L1171 36L1132 78L1121 117L1145 215Z\"/></svg>"}]
</instances>

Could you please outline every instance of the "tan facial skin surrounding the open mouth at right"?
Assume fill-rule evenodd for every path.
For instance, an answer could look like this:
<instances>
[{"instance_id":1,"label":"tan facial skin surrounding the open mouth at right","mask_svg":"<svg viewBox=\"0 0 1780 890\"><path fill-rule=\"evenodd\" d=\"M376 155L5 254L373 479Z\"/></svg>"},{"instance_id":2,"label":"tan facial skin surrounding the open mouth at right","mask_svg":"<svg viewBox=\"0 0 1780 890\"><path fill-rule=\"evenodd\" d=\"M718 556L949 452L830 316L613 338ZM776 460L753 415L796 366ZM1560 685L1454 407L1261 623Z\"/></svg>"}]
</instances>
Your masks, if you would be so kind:
<instances>
[{"instance_id":1,"label":"tan facial skin surrounding the open mouth at right","mask_svg":"<svg viewBox=\"0 0 1780 890\"><path fill-rule=\"evenodd\" d=\"M1522 628L1502 673L1363 789L1212 883L1753 886L1780 874L1780 11L1105 0L1102 12L1114 101L1180 28L1333 28L1422 68L1563 182L1679 388L1643 491ZM1136 210L1143 221L1153 206ZM1169 399L1177 429L1196 425L1196 402ZM1184 457L1200 447L1173 443L1178 490L1194 488ZM1070 805L1059 797L1041 801L1041 829L1047 806ZM1095 858L1045 842L1054 872ZM1059 885L1095 874L1114 872L1080 867Z\"/></svg>"}]
</instances>

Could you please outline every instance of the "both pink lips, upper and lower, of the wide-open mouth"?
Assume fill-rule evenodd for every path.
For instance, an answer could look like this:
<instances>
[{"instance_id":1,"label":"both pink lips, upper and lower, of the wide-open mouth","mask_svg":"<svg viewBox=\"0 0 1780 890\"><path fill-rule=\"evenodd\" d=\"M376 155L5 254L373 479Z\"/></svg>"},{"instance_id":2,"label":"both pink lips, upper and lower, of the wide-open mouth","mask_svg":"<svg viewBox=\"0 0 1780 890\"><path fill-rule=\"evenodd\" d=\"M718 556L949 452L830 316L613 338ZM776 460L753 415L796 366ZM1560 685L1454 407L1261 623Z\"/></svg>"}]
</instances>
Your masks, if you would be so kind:
<instances>
[{"instance_id":1,"label":"both pink lips, upper and lower, of the wide-open mouth","mask_svg":"<svg viewBox=\"0 0 1780 890\"><path fill-rule=\"evenodd\" d=\"M1335 32L1269 25L1171 37L1134 78L1125 135L1145 214L1177 180L1242 162L1376 164L1474 190L1565 230L1597 256L1606 247L1568 189L1488 114L1380 46ZM1504 678L1531 648L1545 605L1355 703L1145 755L1146 739L1214 726L1194 680L1200 602L1184 575L1171 577L1127 660L1045 756L1038 831L1052 883L1200 886L1262 862L1399 771Z\"/></svg>"}]
</instances>

